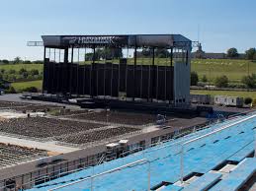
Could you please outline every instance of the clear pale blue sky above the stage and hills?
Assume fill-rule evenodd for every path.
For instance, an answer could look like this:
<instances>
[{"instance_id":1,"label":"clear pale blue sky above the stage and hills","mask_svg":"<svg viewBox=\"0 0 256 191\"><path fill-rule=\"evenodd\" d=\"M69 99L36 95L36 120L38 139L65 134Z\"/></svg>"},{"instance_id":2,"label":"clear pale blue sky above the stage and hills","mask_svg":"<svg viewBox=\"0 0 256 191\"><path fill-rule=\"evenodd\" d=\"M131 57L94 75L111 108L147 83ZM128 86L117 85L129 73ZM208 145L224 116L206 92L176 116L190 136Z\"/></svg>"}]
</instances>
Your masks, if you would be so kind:
<instances>
[{"instance_id":1,"label":"clear pale blue sky above the stage and hills","mask_svg":"<svg viewBox=\"0 0 256 191\"><path fill-rule=\"evenodd\" d=\"M207 52L256 46L255 0L1 0L0 59L42 60L43 34L180 33Z\"/></svg>"}]
</instances>

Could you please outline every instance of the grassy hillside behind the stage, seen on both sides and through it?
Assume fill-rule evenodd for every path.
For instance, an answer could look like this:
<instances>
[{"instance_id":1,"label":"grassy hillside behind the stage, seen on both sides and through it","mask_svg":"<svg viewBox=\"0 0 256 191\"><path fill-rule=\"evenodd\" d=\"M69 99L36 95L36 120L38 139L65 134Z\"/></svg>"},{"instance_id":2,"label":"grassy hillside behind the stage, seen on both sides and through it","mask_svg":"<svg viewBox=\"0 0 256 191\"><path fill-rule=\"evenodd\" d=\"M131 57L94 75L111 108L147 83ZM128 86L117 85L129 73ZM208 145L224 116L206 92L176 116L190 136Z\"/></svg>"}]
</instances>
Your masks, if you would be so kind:
<instances>
[{"instance_id":1,"label":"grassy hillside behind the stage, seen on both sides and through it","mask_svg":"<svg viewBox=\"0 0 256 191\"><path fill-rule=\"evenodd\" d=\"M118 60L117 60L118 61ZM132 63L132 59L128 59L128 64ZM151 63L149 58L138 58L137 64ZM155 64L168 65L170 61L165 58L156 58ZM0 65L0 70L16 70L19 71L22 68L30 71L32 69L38 69L39 72L43 71L43 64L8 64ZM249 73L256 73L256 62L248 60L232 60L232 59L193 59L191 63L191 71L196 71L199 77L204 75L210 81L213 81L215 77L226 75L230 82L240 82L241 78Z\"/></svg>"}]
</instances>

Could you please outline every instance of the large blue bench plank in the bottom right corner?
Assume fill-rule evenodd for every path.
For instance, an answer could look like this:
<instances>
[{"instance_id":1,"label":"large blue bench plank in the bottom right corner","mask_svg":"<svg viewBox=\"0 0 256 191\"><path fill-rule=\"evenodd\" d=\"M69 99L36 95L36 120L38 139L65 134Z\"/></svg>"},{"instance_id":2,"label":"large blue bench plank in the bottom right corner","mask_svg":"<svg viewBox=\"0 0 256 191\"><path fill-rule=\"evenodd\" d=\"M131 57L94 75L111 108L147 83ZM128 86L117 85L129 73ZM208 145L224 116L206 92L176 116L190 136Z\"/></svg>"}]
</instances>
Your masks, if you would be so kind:
<instances>
[{"instance_id":1,"label":"large blue bench plank in the bottom right corner","mask_svg":"<svg viewBox=\"0 0 256 191\"><path fill-rule=\"evenodd\" d=\"M211 191L238 190L256 172L256 158L242 160L223 180L213 186Z\"/></svg>"}]
</instances>

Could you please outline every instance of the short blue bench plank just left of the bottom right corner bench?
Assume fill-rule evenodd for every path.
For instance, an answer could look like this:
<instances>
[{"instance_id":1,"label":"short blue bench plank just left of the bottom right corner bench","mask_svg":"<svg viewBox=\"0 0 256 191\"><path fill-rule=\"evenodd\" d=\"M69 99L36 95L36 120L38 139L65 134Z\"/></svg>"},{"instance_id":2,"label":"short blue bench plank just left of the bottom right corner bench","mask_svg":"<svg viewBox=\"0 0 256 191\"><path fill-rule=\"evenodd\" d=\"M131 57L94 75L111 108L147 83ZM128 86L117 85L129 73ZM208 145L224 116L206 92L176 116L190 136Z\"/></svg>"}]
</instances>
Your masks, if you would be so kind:
<instances>
[{"instance_id":1,"label":"short blue bench plank just left of the bottom right corner bench","mask_svg":"<svg viewBox=\"0 0 256 191\"><path fill-rule=\"evenodd\" d=\"M220 173L208 172L185 187L183 191L204 191L208 190L221 177Z\"/></svg>"}]
</instances>

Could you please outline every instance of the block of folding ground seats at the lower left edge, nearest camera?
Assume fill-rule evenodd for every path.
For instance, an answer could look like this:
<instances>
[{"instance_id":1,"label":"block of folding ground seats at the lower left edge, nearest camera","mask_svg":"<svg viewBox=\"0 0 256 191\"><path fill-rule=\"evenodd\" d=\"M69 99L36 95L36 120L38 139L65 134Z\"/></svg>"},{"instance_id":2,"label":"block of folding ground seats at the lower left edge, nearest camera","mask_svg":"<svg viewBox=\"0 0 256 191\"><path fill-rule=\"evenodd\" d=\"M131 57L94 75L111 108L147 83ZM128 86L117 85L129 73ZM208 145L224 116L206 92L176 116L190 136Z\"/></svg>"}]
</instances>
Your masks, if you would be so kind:
<instances>
[{"instance_id":1,"label":"block of folding ground seats at the lower left edge, nearest camera","mask_svg":"<svg viewBox=\"0 0 256 191\"><path fill-rule=\"evenodd\" d=\"M0 167L47 156L47 152L43 150L0 143Z\"/></svg>"}]
</instances>

